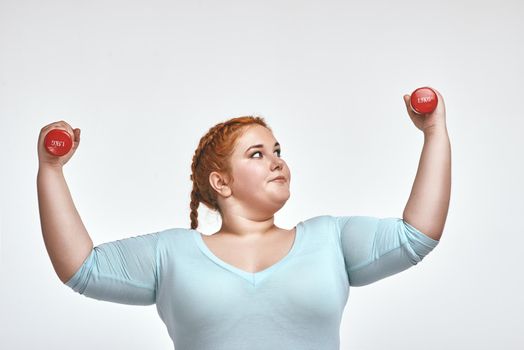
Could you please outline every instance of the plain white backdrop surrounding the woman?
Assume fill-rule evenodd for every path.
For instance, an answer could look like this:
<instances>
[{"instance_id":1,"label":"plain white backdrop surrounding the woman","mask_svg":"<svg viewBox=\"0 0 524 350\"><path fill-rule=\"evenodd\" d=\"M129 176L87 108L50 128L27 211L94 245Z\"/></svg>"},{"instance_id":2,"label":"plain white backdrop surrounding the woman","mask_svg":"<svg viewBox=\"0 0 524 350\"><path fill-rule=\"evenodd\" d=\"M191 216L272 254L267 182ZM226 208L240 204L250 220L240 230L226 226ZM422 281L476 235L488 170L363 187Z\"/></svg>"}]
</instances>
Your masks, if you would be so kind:
<instances>
[{"instance_id":1,"label":"plain white backdrop surrounding the woman","mask_svg":"<svg viewBox=\"0 0 524 350\"><path fill-rule=\"evenodd\" d=\"M154 306L55 275L36 196L40 129L82 129L64 172L96 244L189 227L193 152L266 118L292 172L276 214L402 217L444 97L449 215L422 263L351 288L341 349L522 349L524 5L499 1L0 1L0 348L171 349ZM200 212L200 230L219 219Z\"/></svg>"}]
</instances>

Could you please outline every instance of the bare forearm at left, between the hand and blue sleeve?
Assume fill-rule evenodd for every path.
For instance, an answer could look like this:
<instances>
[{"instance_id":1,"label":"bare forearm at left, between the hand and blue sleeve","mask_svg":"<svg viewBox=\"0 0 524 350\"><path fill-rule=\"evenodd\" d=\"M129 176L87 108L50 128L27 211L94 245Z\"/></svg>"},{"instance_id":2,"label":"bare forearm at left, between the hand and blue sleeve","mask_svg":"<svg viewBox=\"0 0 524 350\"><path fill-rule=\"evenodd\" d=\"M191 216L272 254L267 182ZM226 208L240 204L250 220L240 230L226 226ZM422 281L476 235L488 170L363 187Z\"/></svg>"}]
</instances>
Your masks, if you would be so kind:
<instances>
[{"instance_id":1,"label":"bare forearm at left, between the hand and blue sleeve","mask_svg":"<svg viewBox=\"0 0 524 350\"><path fill-rule=\"evenodd\" d=\"M37 192L44 243L58 277L65 283L90 254L93 242L73 203L62 168L40 167Z\"/></svg>"}]
</instances>

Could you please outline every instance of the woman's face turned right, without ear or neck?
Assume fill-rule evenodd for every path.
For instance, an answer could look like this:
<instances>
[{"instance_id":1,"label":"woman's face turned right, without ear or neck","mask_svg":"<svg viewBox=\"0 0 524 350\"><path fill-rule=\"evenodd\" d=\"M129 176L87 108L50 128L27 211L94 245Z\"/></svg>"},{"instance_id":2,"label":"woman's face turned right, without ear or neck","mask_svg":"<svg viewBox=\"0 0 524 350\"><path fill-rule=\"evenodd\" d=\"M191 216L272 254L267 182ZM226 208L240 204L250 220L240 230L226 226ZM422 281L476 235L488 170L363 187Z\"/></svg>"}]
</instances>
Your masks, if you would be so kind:
<instances>
[{"instance_id":1,"label":"woman's face turned right, without ear or neck","mask_svg":"<svg viewBox=\"0 0 524 350\"><path fill-rule=\"evenodd\" d=\"M291 172L280 145L262 125L250 125L237 139L231 156L231 195L247 210L273 215L290 196ZM283 180L274 180L283 176Z\"/></svg>"}]
</instances>

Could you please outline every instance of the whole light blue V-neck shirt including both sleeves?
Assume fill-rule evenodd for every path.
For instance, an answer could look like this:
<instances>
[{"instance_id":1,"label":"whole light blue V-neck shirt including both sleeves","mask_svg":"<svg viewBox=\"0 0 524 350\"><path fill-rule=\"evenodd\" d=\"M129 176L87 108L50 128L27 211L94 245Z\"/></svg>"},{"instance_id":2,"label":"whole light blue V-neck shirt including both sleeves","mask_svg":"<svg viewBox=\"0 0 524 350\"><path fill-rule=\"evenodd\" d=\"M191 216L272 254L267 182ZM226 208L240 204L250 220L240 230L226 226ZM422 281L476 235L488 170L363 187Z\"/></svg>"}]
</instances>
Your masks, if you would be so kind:
<instances>
[{"instance_id":1,"label":"whole light blue V-neck shirt including both sleeves","mask_svg":"<svg viewBox=\"0 0 524 350\"><path fill-rule=\"evenodd\" d=\"M85 296L156 304L176 350L338 350L350 286L416 265L439 241L399 218L301 221L287 255L256 273L173 228L93 248L66 285Z\"/></svg>"}]
</instances>

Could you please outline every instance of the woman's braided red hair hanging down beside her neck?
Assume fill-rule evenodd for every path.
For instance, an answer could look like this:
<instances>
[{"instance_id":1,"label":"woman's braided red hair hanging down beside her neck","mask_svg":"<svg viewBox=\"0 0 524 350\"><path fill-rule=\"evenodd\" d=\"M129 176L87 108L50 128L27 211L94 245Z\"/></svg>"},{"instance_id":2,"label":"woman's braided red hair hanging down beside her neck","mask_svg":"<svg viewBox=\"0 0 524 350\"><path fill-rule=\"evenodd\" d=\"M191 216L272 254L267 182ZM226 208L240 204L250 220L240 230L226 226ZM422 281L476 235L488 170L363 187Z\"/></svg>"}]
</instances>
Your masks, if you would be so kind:
<instances>
[{"instance_id":1,"label":"woman's braided red hair hanging down beside her neck","mask_svg":"<svg viewBox=\"0 0 524 350\"><path fill-rule=\"evenodd\" d=\"M242 135L248 125L259 124L271 131L263 117L242 116L229 119L211 127L202 136L198 144L193 161L191 163L191 175L189 179L193 182L191 190L191 229L198 227L198 206L202 202L211 210L216 210L220 214L217 193L209 183L209 174L213 171L225 173L232 179L230 156L233 153L236 140Z\"/></svg>"}]
</instances>

